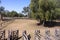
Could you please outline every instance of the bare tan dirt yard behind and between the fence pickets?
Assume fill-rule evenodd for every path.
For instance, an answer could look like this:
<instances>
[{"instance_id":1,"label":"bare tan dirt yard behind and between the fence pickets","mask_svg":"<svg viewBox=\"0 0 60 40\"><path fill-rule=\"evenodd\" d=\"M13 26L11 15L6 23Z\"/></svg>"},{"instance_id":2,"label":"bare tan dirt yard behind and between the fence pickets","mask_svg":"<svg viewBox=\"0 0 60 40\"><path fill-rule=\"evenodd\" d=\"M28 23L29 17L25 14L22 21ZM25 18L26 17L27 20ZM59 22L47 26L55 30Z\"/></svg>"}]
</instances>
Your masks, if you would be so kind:
<instances>
[{"instance_id":1,"label":"bare tan dirt yard behind and between the fence pickets","mask_svg":"<svg viewBox=\"0 0 60 40\"><path fill-rule=\"evenodd\" d=\"M31 40L34 40L34 32L35 30L40 30L41 31L41 35L45 34L45 30L46 29L50 29L51 34L54 35L54 30L59 28L60 26L57 27L43 27L41 26L37 26L38 21L36 20L30 20L30 19L15 19L12 23L10 23L9 25L7 25L5 28L3 28L2 30L6 30L6 35L8 30L19 30L19 36L22 36L22 32L24 30L27 31L27 34L31 35ZM42 37L41 40L43 40L44 37Z\"/></svg>"}]
</instances>

